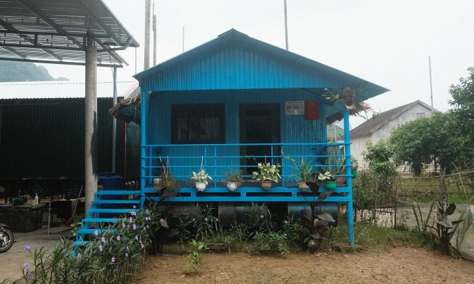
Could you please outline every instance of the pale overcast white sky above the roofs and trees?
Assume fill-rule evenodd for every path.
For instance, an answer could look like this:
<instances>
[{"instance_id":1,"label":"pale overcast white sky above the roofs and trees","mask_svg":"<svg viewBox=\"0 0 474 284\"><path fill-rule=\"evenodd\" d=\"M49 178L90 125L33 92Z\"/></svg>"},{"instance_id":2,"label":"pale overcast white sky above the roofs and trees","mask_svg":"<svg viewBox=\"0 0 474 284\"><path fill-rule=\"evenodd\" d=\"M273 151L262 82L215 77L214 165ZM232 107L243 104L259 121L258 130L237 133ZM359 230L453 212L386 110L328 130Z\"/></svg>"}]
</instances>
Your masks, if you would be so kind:
<instances>
[{"instance_id":1,"label":"pale overcast white sky above the roofs and trees","mask_svg":"<svg viewBox=\"0 0 474 284\"><path fill-rule=\"evenodd\" d=\"M119 69L130 79L144 65L144 0L103 0L132 36L135 49L119 52L130 65ZM157 63L236 29L284 48L283 0L155 0ZM287 0L289 50L355 75L390 92L367 102L387 111L415 100L450 108L449 87L474 66L472 0ZM153 62L151 62L153 64ZM84 67L45 65L53 77L84 80ZM112 81L110 68L98 68L98 81ZM351 127L363 118L352 118Z\"/></svg>"}]
</instances>

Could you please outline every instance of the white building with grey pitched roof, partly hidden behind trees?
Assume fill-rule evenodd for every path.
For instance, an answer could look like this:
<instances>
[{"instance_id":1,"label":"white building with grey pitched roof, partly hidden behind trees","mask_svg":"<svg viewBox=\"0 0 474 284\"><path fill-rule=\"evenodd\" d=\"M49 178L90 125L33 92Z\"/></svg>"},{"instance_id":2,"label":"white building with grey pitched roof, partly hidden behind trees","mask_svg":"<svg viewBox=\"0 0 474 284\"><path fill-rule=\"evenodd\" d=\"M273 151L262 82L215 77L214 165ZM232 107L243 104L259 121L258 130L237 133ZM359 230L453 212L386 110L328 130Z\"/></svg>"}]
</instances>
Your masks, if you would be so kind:
<instances>
[{"instance_id":1,"label":"white building with grey pitched roof, partly hidden behind trees","mask_svg":"<svg viewBox=\"0 0 474 284\"><path fill-rule=\"evenodd\" d=\"M365 168L362 152L365 151L367 141L372 141L375 144L381 139L389 139L392 131L400 125L429 116L431 116L431 107L420 100L376 114L373 118L369 118L351 130L353 143L351 154L359 161L359 165Z\"/></svg>"}]
</instances>

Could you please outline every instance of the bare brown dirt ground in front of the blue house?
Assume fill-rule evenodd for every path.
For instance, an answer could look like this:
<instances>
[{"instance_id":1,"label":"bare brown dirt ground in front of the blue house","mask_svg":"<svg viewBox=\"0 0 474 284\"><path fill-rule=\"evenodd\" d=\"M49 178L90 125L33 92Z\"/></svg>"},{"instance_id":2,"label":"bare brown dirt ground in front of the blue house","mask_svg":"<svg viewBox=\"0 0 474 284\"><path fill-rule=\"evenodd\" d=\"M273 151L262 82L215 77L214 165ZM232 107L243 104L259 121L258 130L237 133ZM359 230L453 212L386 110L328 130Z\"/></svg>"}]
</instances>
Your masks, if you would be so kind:
<instances>
[{"instance_id":1,"label":"bare brown dirt ground in front of the blue house","mask_svg":"<svg viewBox=\"0 0 474 284\"><path fill-rule=\"evenodd\" d=\"M422 248L288 258L207 253L197 275L183 274L187 261L185 255L151 257L134 283L474 283L473 262Z\"/></svg>"}]
</instances>

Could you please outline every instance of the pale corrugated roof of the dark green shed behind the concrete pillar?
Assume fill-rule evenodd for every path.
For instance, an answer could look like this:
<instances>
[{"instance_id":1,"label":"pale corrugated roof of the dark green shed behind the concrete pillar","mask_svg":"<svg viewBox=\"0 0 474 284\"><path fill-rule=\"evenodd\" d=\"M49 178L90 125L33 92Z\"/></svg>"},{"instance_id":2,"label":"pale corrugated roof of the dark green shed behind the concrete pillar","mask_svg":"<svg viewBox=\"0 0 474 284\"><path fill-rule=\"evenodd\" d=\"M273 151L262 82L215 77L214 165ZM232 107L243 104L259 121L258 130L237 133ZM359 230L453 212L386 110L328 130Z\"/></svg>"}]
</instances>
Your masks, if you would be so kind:
<instances>
[{"instance_id":1,"label":"pale corrugated roof of the dark green shed behind the concrete pillar","mask_svg":"<svg viewBox=\"0 0 474 284\"><path fill-rule=\"evenodd\" d=\"M117 95L128 97L136 81L117 81ZM0 83L0 100L85 97L83 81L32 81ZM97 97L113 97L112 81L97 83Z\"/></svg>"}]
</instances>

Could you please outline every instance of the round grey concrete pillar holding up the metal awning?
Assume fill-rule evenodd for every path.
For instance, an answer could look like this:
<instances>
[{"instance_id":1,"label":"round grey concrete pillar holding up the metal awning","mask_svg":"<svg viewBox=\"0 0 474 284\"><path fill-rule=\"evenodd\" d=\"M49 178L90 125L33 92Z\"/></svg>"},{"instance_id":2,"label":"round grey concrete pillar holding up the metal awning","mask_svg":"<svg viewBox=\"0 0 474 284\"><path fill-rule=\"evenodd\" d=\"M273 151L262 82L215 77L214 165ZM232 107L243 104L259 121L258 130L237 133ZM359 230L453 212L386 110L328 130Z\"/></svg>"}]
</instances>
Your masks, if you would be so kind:
<instances>
[{"instance_id":1,"label":"round grey concrete pillar holding up the metal awning","mask_svg":"<svg viewBox=\"0 0 474 284\"><path fill-rule=\"evenodd\" d=\"M84 188L86 210L91 208L97 191L98 148L97 148L97 47L88 39L86 45L86 133Z\"/></svg>"}]
</instances>

